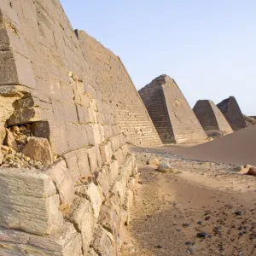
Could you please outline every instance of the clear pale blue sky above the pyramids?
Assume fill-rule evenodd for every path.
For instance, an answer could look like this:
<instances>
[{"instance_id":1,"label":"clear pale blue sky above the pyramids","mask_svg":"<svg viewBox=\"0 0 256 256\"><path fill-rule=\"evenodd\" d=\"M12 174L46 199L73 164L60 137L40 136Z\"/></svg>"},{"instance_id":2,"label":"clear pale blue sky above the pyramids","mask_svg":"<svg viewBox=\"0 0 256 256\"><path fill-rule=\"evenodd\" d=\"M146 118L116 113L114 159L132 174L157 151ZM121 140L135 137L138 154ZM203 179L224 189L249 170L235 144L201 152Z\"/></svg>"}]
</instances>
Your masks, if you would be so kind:
<instances>
[{"instance_id":1,"label":"clear pale blue sky above the pyramids","mask_svg":"<svg viewBox=\"0 0 256 256\"><path fill-rule=\"evenodd\" d=\"M61 0L73 28L125 63L137 90L166 73L191 107L236 96L256 115L255 0Z\"/></svg>"}]
</instances>

